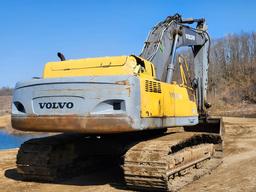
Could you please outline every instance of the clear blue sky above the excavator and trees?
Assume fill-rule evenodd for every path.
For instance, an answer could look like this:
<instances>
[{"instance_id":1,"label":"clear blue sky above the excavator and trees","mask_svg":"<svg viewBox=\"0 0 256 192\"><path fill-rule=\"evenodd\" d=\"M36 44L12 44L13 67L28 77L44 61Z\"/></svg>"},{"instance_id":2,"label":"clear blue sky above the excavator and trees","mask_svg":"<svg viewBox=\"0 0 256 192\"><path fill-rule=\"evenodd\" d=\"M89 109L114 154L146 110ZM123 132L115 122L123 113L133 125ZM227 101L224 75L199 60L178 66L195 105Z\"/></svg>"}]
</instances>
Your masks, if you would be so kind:
<instances>
[{"instance_id":1,"label":"clear blue sky above the excavator and trees","mask_svg":"<svg viewBox=\"0 0 256 192\"><path fill-rule=\"evenodd\" d=\"M255 0L0 0L0 87L41 76L44 64L139 54L168 15L204 17L211 38L256 31Z\"/></svg>"}]
</instances>

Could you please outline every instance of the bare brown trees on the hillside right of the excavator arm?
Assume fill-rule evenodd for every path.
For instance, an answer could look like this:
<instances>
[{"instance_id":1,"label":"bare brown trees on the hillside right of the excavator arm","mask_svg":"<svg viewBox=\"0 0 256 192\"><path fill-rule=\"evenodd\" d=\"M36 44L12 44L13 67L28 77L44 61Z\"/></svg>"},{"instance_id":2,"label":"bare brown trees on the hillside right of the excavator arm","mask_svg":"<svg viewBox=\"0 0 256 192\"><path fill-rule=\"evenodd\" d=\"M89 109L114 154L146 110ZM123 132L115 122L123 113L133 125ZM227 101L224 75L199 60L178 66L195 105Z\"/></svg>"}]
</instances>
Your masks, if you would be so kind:
<instances>
[{"instance_id":1,"label":"bare brown trees on the hillside right of the excavator arm","mask_svg":"<svg viewBox=\"0 0 256 192\"><path fill-rule=\"evenodd\" d=\"M212 41L209 95L226 102L256 103L256 32Z\"/></svg>"}]
</instances>

